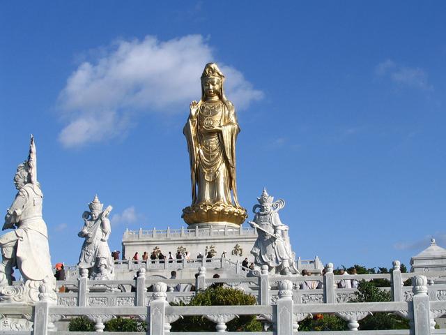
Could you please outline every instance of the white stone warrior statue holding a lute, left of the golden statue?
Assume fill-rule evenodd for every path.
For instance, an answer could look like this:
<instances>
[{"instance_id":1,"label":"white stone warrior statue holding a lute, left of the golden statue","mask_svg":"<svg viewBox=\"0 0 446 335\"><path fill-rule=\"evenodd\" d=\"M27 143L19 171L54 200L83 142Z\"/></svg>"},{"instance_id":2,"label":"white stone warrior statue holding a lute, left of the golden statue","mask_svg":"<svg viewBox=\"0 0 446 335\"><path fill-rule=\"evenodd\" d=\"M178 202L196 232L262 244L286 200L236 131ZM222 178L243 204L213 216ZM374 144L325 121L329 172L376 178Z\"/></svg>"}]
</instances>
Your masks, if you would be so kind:
<instances>
[{"instance_id":1,"label":"white stone warrior statue holding a lute, left of the golden statue","mask_svg":"<svg viewBox=\"0 0 446 335\"><path fill-rule=\"evenodd\" d=\"M77 234L84 237L82 251L79 255L79 269L89 269L89 277L93 280L112 280L114 278L114 263L108 244L110 232L109 214L112 207L102 211L98 195L89 203L90 211L84 211L84 228Z\"/></svg>"}]
</instances>

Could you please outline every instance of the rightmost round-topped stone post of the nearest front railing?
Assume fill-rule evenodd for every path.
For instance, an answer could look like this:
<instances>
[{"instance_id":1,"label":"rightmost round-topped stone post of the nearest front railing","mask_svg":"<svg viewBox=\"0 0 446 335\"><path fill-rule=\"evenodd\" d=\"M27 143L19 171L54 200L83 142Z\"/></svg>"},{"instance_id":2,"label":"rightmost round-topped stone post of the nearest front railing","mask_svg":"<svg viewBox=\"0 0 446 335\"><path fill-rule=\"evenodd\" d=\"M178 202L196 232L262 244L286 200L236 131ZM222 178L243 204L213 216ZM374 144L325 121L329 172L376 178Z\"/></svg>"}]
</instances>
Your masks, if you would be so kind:
<instances>
[{"instance_id":1,"label":"rightmost round-topped stone post of the nearest front railing","mask_svg":"<svg viewBox=\"0 0 446 335\"><path fill-rule=\"evenodd\" d=\"M415 335L431 335L429 296L426 276L412 278L413 285L413 327Z\"/></svg>"}]
</instances>

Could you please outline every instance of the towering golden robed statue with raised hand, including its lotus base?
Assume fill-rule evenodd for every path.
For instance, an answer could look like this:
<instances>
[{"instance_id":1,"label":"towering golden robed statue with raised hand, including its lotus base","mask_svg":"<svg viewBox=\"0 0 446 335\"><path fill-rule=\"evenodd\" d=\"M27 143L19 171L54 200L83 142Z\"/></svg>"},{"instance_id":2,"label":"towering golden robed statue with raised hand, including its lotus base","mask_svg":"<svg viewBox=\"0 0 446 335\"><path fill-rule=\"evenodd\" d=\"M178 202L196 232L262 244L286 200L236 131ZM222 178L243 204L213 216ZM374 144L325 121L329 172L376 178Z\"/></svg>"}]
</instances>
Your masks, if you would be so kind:
<instances>
[{"instance_id":1,"label":"towering golden robed statue with raised hand, including its lotus base","mask_svg":"<svg viewBox=\"0 0 446 335\"><path fill-rule=\"evenodd\" d=\"M192 205L183 209L190 226L239 227L247 218L236 187L236 111L223 90L217 64L206 64L201 75L201 100L190 103L183 133L190 156ZM232 191L232 193L231 193Z\"/></svg>"}]
</instances>

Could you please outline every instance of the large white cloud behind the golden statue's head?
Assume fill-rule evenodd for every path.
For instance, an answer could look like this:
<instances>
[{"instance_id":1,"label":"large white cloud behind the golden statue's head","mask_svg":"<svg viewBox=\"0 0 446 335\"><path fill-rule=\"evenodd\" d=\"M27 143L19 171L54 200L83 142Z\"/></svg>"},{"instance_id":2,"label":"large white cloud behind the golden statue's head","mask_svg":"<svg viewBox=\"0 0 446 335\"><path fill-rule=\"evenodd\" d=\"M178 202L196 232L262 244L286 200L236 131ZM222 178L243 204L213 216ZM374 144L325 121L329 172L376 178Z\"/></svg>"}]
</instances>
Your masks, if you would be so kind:
<instances>
[{"instance_id":1,"label":"large white cloud behind the golden statue's head","mask_svg":"<svg viewBox=\"0 0 446 335\"><path fill-rule=\"evenodd\" d=\"M59 96L67 125L59 134L65 147L108 140L134 124L144 112L184 112L200 96L199 77L206 63L215 61L201 35L162 42L118 40L98 57L84 61ZM238 110L262 98L240 71L220 64L226 76L226 95Z\"/></svg>"}]
</instances>

